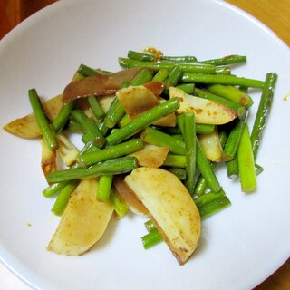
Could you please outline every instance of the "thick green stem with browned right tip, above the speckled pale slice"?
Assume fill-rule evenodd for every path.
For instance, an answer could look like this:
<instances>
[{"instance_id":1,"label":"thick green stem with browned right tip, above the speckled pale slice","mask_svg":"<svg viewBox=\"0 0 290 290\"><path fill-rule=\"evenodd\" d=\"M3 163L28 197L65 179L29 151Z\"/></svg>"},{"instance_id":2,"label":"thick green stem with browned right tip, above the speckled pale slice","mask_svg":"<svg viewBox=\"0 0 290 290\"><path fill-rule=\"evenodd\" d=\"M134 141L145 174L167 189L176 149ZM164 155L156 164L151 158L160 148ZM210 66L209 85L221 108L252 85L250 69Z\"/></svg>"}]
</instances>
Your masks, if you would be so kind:
<instances>
[{"instance_id":1,"label":"thick green stem with browned right tip, above the speckled pale slice","mask_svg":"<svg viewBox=\"0 0 290 290\"><path fill-rule=\"evenodd\" d=\"M231 85L212 84L208 85L208 91L217 94L220 97L226 98L233 102L249 108L253 105L252 98L246 93Z\"/></svg>"}]
</instances>

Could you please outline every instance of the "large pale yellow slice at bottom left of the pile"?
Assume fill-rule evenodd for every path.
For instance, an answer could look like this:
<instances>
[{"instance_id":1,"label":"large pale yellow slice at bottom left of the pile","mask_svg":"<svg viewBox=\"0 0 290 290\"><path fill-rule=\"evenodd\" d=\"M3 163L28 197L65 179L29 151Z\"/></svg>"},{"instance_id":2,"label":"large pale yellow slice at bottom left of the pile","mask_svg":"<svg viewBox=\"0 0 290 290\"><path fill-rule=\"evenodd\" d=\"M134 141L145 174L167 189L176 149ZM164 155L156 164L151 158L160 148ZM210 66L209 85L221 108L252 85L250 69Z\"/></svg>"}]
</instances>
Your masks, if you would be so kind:
<instances>
[{"instance_id":1,"label":"large pale yellow slice at bottom left of the pile","mask_svg":"<svg viewBox=\"0 0 290 290\"><path fill-rule=\"evenodd\" d=\"M79 256L87 252L103 235L113 207L95 198L96 179L82 180L73 191L61 221L47 249L57 254Z\"/></svg>"}]
</instances>

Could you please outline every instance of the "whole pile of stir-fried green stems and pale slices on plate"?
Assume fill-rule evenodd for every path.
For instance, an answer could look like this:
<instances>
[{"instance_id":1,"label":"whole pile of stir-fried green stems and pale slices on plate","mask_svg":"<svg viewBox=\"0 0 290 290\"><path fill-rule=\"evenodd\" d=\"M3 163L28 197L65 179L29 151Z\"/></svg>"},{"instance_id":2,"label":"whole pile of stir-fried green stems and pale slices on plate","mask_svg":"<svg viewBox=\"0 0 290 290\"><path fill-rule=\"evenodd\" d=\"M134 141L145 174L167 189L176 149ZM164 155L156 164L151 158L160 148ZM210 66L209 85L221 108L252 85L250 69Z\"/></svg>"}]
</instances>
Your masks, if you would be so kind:
<instances>
[{"instance_id":1,"label":"whole pile of stir-fried green stems and pale slices on plate","mask_svg":"<svg viewBox=\"0 0 290 290\"><path fill-rule=\"evenodd\" d=\"M256 156L277 75L260 81L232 74L246 62L241 55L198 61L149 48L119 58L117 73L81 64L63 93L48 101L29 90L33 113L4 129L41 140L43 196L56 197L52 211L62 216L47 249L82 255L112 216L131 210L148 218L144 247L164 240L185 264L198 246L201 219L230 205L218 165L244 192L256 190L263 171ZM261 91L256 112L252 88Z\"/></svg>"}]
</instances>

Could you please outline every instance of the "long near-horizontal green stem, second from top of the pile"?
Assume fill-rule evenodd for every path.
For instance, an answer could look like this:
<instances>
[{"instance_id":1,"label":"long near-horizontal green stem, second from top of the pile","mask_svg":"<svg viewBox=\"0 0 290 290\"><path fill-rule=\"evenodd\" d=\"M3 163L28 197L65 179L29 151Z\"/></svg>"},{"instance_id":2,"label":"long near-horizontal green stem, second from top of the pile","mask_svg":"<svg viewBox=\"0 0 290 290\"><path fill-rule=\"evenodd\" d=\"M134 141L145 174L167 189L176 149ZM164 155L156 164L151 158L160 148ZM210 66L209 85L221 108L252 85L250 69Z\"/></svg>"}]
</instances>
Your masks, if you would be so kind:
<instances>
[{"instance_id":1,"label":"long near-horizontal green stem, second from top of the pile","mask_svg":"<svg viewBox=\"0 0 290 290\"><path fill-rule=\"evenodd\" d=\"M167 63L167 62L139 62L126 58L119 58L119 64L122 67L132 68L132 67L144 67L150 68L155 71L160 69L171 70L175 65L179 65L183 72L188 73L217 73L216 66L211 64L202 63Z\"/></svg>"}]
</instances>

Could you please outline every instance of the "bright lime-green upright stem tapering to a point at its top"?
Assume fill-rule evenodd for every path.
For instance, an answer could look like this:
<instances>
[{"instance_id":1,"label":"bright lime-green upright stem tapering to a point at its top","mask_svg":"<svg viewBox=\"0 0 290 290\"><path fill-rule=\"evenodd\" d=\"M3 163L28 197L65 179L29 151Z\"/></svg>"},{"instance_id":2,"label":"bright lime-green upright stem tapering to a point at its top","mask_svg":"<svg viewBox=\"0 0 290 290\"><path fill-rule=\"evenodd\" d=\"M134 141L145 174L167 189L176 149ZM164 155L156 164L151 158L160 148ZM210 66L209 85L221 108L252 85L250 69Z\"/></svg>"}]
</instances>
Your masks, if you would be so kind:
<instances>
[{"instance_id":1,"label":"bright lime-green upright stem tapering to a point at its top","mask_svg":"<svg viewBox=\"0 0 290 290\"><path fill-rule=\"evenodd\" d=\"M237 149L238 172L241 189L244 192L256 190L255 160L252 150L251 137L247 124L244 126L241 140Z\"/></svg>"}]
</instances>

